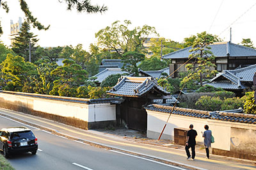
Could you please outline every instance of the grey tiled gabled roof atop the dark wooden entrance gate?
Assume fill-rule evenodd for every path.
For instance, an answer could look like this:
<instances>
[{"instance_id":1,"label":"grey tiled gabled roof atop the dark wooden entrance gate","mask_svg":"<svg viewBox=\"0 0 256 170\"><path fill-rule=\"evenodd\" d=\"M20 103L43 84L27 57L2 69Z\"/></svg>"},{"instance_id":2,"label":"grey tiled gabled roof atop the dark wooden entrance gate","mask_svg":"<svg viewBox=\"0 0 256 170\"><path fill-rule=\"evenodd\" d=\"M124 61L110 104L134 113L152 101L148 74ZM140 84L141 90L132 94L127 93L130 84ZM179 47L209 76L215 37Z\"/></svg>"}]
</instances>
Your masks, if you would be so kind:
<instances>
[{"instance_id":1,"label":"grey tiled gabled roof atop the dark wooden entrance gate","mask_svg":"<svg viewBox=\"0 0 256 170\"><path fill-rule=\"evenodd\" d=\"M124 96L124 97L141 97L148 93L151 89L170 95L161 86L155 82L152 77L121 77L116 86L108 91L109 95Z\"/></svg>"}]
</instances>

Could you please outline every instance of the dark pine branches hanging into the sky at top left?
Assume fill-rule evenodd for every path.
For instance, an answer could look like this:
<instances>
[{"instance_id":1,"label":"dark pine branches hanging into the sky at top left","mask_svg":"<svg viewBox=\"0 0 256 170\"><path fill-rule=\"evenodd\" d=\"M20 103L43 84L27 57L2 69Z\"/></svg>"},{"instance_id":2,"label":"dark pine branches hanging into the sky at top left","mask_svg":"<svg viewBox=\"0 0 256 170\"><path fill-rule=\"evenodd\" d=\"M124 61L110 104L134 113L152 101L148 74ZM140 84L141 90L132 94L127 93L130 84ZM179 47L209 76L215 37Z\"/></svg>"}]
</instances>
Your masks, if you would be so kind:
<instances>
[{"instance_id":1,"label":"dark pine branches hanging into the sky at top left","mask_svg":"<svg viewBox=\"0 0 256 170\"><path fill-rule=\"evenodd\" d=\"M59 1L60 3L67 3L67 10L72 10L72 8L76 8L77 12L87 12L87 13L97 13L97 12L106 12L108 10L107 6L99 6L99 5L92 5L90 0L65 0L65 1ZM50 26L43 26L38 20L32 15L32 13L29 10L28 4L25 0L19 0L20 8L22 12L24 12L26 18L28 19L29 23L33 24L33 27L36 27L38 30L47 30ZM3 9L6 11L6 13L9 12L8 4L6 1L2 2L0 0L0 8L1 5L3 6ZM1 27L0 22L0 35L3 34L3 29Z\"/></svg>"}]
</instances>

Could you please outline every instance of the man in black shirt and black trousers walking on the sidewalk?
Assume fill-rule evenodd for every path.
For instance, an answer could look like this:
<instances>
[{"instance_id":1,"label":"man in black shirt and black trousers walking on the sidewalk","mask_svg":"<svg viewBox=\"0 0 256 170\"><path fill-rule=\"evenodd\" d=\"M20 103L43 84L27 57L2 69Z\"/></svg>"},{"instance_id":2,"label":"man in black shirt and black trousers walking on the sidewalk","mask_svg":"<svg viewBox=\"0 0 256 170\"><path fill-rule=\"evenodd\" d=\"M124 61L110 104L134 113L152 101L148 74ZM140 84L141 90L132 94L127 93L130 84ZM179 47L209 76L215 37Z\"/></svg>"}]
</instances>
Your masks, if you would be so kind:
<instances>
[{"instance_id":1,"label":"man in black shirt and black trousers walking on the sidewalk","mask_svg":"<svg viewBox=\"0 0 256 170\"><path fill-rule=\"evenodd\" d=\"M185 146L185 150L186 150L186 153L187 153L187 156L189 158L191 158L191 155L190 155L190 152L189 152L189 148L191 148L191 151L192 151L192 159L195 160L195 145L196 145L196 130L193 130L193 125L189 125L189 128L190 130L188 131L188 134L187 134L187 141L186 141L186 146Z\"/></svg>"}]
</instances>

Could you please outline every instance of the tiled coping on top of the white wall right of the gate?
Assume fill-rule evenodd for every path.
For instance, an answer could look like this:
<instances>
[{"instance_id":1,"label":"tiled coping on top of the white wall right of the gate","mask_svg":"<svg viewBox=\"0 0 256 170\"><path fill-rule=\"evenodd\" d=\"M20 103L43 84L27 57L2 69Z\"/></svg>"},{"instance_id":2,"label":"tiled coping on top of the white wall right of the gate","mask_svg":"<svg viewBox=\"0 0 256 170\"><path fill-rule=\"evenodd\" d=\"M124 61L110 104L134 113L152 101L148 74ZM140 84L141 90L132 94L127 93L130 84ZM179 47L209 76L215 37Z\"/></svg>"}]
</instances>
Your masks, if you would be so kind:
<instances>
[{"instance_id":1,"label":"tiled coping on top of the white wall right of the gate","mask_svg":"<svg viewBox=\"0 0 256 170\"><path fill-rule=\"evenodd\" d=\"M145 107L145 109L148 111L170 113L172 111L172 106L152 104ZM198 111L194 109L185 109L185 108L179 108L179 107L175 107L172 114L177 114L180 116L189 116L194 118L201 118L201 119L256 124L255 114L242 114L242 113L236 113L236 112L221 112L221 111L216 111L216 112Z\"/></svg>"}]
</instances>

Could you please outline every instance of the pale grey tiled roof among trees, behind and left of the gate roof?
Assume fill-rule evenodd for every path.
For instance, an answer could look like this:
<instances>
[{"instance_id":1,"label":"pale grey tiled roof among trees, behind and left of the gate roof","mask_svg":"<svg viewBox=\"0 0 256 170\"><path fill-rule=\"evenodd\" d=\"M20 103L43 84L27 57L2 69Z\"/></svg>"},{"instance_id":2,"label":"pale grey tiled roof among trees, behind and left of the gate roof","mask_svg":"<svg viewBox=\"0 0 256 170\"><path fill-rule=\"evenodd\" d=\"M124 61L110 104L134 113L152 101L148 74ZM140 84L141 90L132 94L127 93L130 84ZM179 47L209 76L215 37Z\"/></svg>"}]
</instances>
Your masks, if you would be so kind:
<instances>
[{"instance_id":1,"label":"pale grey tiled roof among trees, behind and left of the gate roof","mask_svg":"<svg viewBox=\"0 0 256 170\"><path fill-rule=\"evenodd\" d=\"M128 73L128 72L122 71L121 68L106 68L102 72L99 72L96 75L93 75L93 77L97 77L97 79L95 81L102 82L109 75L118 74L118 73L124 74L124 73Z\"/></svg>"}]
</instances>

